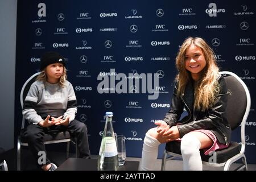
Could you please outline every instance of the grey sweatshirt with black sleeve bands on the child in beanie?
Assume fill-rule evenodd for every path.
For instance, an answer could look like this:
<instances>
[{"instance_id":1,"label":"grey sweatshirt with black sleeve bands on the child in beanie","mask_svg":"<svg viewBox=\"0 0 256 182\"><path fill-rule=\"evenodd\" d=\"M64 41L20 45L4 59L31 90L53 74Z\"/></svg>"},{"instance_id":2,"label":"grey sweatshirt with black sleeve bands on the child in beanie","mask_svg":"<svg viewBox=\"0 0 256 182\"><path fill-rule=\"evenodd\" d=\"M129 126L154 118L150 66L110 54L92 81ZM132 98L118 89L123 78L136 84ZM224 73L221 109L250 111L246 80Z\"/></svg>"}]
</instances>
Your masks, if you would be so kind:
<instances>
[{"instance_id":1,"label":"grey sweatshirt with black sleeve bands on the child in beanie","mask_svg":"<svg viewBox=\"0 0 256 182\"><path fill-rule=\"evenodd\" d=\"M75 119L77 112L76 95L72 84L65 81L64 88L59 84L50 84L43 81L35 81L25 98L22 114L30 123L37 125L43 121L47 115L63 119L70 116L69 122Z\"/></svg>"}]
</instances>

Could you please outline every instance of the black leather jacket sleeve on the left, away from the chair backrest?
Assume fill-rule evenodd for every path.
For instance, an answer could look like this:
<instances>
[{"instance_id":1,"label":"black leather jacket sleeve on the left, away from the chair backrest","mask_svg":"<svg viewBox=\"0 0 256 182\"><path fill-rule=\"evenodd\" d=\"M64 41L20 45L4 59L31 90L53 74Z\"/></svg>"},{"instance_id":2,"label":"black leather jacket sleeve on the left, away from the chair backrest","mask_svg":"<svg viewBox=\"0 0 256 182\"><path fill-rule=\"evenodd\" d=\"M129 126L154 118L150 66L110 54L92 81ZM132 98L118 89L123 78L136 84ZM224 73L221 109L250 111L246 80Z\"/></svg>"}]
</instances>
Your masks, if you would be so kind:
<instances>
[{"instance_id":1,"label":"black leather jacket sleeve on the left, away from the chair backrest","mask_svg":"<svg viewBox=\"0 0 256 182\"><path fill-rule=\"evenodd\" d=\"M164 116L163 121L170 126L174 126L176 122L180 119L181 114L183 113L183 102L180 97L177 96L177 82L174 84L174 92L172 94L172 103L171 109Z\"/></svg>"}]
</instances>

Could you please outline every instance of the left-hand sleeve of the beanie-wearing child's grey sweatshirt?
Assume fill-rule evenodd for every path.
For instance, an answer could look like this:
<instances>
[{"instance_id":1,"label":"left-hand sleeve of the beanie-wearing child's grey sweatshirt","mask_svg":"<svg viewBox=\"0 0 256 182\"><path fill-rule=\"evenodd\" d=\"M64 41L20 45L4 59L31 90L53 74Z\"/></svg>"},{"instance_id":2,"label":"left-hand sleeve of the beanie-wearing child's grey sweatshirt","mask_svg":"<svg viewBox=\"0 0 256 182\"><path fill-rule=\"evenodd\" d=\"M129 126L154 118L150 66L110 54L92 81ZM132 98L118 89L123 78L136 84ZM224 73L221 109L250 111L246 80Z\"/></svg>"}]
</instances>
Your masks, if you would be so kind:
<instances>
[{"instance_id":1,"label":"left-hand sleeve of the beanie-wearing child's grey sweatshirt","mask_svg":"<svg viewBox=\"0 0 256 182\"><path fill-rule=\"evenodd\" d=\"M32 84L30 90L28 90L27 96L24 100L22 114L28 122L37 125L40 121L43 121L42 117L36 112L36 106L38 104L38 87Z\"/></svg>"}]
</instances>

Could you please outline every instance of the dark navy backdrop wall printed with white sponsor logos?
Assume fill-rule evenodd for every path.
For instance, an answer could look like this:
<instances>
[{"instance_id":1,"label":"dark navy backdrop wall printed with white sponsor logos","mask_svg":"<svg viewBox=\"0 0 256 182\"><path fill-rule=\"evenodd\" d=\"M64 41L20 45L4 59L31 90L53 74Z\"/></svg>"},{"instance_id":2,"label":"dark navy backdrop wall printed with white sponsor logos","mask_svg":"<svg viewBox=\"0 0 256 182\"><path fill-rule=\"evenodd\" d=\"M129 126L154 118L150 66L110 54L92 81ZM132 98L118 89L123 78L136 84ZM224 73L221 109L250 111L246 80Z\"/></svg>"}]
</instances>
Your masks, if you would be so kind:
<instances>
[{"instance_id":1,"label":"dark navy backdrop wall printed with white sponsor logos","mask_svg":"<svg viewBox=\"0 0 256 182\"><path fill-rule=\"evenodd\" d=\"M144 134L170 109L176 53L185 38L200 36L221 71L236 73L250 90L245 154L256 163L254 7L253 0L18 1L15 133L24 81L39 71L44 52L58 51L67 60L76 118L88 126L92 154L100 149L104 114L113 111L115 133L126 136L126 155L141 157ZM163 150L161 145L159 158Z\"/></svg>"}]
</instances>

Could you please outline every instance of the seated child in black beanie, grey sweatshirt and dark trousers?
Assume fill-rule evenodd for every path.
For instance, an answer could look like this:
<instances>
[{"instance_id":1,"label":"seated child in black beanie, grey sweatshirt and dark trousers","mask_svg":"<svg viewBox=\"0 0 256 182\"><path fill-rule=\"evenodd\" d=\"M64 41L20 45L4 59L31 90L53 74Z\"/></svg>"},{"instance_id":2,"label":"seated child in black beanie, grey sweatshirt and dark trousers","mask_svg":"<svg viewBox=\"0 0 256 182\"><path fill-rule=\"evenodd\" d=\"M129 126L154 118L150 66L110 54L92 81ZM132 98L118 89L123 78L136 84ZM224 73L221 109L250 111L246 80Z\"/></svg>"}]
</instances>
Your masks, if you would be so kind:
<instances>
[{"instance_id":1,"label":"seated child in black beanie, grey sweatshirt and dark trousers","mask_svg":"<svg viewBox=\"0 0 256 182\"><path fill-rule=\"evenodd\" d=\"M22 110L24 118L30 123L24 137L33 155L39 163L39 151L46 151L43 143L46 132L68 130L77 139L80 158L89 158L87 128L75 119L77 101L72 84L66 80L64 57L57 52L46 52L41 58L40 70L40 75L28 91ZM47 156L46 162L39 163L39 166L45 171L57 168Z\"/></svg>"}]
</instances>

